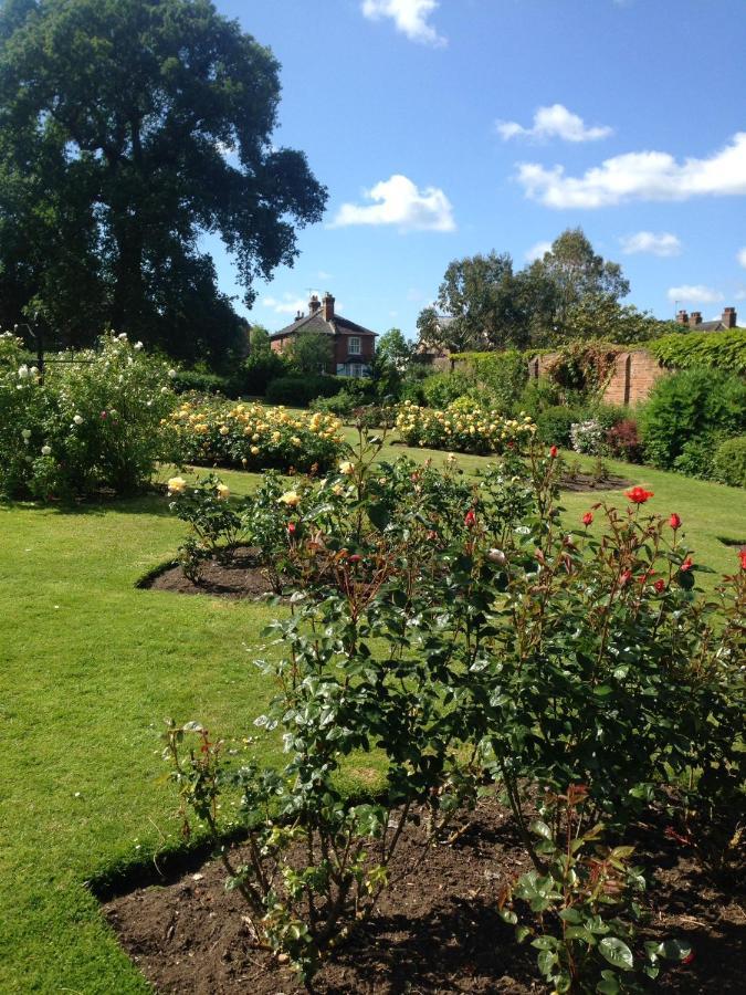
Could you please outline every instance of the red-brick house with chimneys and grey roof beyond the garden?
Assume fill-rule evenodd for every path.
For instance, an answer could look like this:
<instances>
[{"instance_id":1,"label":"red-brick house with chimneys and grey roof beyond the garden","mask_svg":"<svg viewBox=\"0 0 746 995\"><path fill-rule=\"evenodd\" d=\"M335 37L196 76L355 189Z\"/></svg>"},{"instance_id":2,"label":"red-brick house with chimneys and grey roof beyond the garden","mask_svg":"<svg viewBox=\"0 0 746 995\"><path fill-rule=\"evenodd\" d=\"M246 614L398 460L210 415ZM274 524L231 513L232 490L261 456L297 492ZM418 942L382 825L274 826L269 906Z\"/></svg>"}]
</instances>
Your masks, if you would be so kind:
<instances>
[{"instance_id":1,"label":"red-brick house with chimneys and grey roof beyond the garden","mask_svg":"<svg viewBox=\"0 0 746 995\"><path fill-rule=\"evenodd\" d=\"M314 294L308 302L308 314L298 312L294 322L270 336L272 349L284 353L300 332L332 337L334 359L330 373L336 373L338 377L366 377L370 374L377 333L335 314L334 297L328 292L321 301Z\"/></svg>"}]
</instances>

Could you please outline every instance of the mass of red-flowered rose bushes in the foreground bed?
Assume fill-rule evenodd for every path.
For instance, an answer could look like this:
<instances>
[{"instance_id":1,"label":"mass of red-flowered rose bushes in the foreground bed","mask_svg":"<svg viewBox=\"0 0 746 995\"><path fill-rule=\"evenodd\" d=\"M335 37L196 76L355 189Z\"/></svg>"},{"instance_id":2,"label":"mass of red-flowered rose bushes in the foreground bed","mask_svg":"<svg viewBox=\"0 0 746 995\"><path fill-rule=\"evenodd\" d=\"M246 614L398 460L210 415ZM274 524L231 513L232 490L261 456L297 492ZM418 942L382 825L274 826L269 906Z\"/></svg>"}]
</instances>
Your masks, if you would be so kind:
<instances>
[{"instance_id":1,"label":"mass of red-flowered rose bushes in the foreground bed","mask_svg":"<svg viewBox=\"0 0 746 995\"><path fill-rule=\"evenodd\" d=\"M701 813L705 832L713 809L743 817L746 556L718 605L694 594L681 520L642 511L642 488L557 527L551 453L508 453L466 481L451 461L379 463L379 447L363 440L285 492L274 479L254 505L292 594L260 663L277 698L256 720L286 761L259 767L170 723L185 815L212 835L259 940L308 980L375 912L408 823L437 839L492 778L534 865L512 891L540 972L557 991L631 989L635 970L652 977L684 950L634 933L630 825L656 796ZM386 783L350 804L342 765L374 751ZM237 819L242 866L221 842ZM611 850L595 850L600 820Z\"/></svg>"}]
</instances>

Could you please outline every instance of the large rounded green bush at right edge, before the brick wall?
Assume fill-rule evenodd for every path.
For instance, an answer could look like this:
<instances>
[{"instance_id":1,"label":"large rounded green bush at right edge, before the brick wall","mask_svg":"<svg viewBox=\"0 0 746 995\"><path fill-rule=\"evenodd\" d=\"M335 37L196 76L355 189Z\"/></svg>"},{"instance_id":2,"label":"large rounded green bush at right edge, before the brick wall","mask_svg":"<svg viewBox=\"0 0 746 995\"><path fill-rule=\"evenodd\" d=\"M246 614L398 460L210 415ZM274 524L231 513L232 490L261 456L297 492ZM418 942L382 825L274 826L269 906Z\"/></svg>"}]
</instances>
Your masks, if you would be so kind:
<instances>
[{"instance_id":1,"label":"large rounded green bush at right edge, before the brick wall","mask_svg":"<svg viewBox=\"0 0 746 995\"><path fill-rule=\"evenodd\" d=\"M670 470L698 462L687 443L746 429L746 383L714 369L690 369L659 379L640 415L645 457Z\"/></svg>"}]
</instances>

